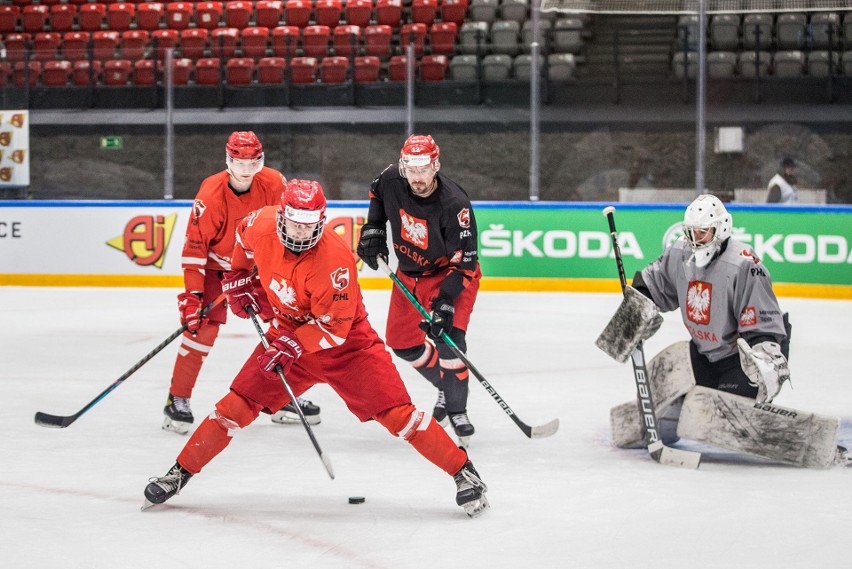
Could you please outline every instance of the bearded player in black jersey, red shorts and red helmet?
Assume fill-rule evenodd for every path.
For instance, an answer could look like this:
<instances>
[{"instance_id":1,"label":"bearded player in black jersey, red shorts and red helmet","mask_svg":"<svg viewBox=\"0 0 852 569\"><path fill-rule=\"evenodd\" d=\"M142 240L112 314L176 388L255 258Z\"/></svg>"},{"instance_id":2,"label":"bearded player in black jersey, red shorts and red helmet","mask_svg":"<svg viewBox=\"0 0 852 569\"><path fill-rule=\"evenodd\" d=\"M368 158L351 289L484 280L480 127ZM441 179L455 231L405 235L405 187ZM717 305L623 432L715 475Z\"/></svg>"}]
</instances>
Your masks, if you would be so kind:
<instances>
[{"instance_id":1,"label":"bearded player in black jersey, red shorts and red helmet","mask_svg":"<svg viewBox=\"0 0 852 569\"><path fill-rule=\"evenodd\" d=\"M433 416L442 424L449 418L467 445L474 433L467 416L468 370L441 336L446 332L467 351L465 336L482 273L470 198L438 173L439 156L431 136L412 135L405 141L399 164L388 166L370 188L358 255L374 270L379 256L387 260L385 227L390 222L397 276L432 310L432 324L421 322L417 309L394 288L385 341L438 389Z\"/></svg>"}]
</instances>

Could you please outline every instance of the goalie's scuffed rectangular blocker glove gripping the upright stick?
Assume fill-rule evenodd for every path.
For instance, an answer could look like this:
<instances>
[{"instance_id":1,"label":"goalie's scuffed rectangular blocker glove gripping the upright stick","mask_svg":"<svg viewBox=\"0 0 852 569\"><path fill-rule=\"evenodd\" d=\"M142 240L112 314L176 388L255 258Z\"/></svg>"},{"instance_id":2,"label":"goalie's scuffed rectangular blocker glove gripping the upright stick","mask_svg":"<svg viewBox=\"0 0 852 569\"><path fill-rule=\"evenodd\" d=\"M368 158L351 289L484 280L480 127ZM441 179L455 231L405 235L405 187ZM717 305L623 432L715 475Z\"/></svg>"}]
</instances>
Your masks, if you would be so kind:
<instances>
[{"instance_id":1,"label":"goalie's scuffed rectangular blocker glove gripping the upright stick","mask_svg":"<svg viewBox=\"0 0 852 569\"><path fill-rule=\"evenodd\" d=\"M624 287L624 299L595 345L609 357L624 363L633 350L657 333L663 317L654 301L633 288Z\"/></svg>"}]
</instances>

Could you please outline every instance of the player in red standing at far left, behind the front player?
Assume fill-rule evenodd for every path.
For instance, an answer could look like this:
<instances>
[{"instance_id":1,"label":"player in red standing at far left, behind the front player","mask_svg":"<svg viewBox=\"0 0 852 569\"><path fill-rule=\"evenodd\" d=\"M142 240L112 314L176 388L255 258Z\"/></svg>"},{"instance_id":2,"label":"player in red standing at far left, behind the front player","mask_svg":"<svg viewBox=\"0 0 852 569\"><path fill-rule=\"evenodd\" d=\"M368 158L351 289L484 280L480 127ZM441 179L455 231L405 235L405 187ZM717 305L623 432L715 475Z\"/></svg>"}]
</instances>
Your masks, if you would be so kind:
<instances>
[{"instance_id":1,"label":"player in red standing at far left, behind the front player","mask_svg":"<svg viewBox=\"0 0 852 569\"><path fill-rule=\"evenodd\" d=\"M251 211L277 204L284 190L283 176L263 162L263 146L255 133L233 132L225 145L227 168L201 183L192 205L181 255L185 290L178 295L181 324L187 329L163 410L165 430L186 434L193 422L192 390L228 314L222 304L201 318L201 308L222 293L222 273L231 268L237 222ZM319 407L306 400L299 404L312 424L320 422ZM298 422L298 412L288 404L273 420Z\"/></svg>"}]
</instances>

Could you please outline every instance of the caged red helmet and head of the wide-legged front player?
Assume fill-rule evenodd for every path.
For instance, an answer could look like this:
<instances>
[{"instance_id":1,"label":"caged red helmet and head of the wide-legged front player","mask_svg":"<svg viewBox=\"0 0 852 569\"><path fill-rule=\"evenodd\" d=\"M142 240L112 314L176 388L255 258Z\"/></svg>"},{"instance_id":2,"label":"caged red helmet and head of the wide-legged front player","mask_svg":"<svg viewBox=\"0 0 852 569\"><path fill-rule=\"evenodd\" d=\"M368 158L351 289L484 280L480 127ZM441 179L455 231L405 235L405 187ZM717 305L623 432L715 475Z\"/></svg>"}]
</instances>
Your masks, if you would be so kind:
<instances>
[{"instance_id":1,"label":"caged red helmet and head of the wide-legged front player","mask_svg":"<svg viewBox=\"0 0 852 569\"><path fill-rule=\"evenodd\" d=\"M294 253L319 242L325 227L325 195L319 182L290 180L278 208L278 238Z\"/></svg>"}]
</instances>

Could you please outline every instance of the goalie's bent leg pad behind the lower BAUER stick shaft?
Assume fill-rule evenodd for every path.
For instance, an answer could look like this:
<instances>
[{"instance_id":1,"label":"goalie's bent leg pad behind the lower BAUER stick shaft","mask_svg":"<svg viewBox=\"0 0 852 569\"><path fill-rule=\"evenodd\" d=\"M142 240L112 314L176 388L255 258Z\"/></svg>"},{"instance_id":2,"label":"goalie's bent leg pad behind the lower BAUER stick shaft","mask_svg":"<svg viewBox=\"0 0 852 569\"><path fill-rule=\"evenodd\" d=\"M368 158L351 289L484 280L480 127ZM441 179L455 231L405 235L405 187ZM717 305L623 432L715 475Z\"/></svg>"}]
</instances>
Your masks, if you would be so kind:
<instances>
[{"instance_id":1,"label":"goalie's bent leg pad behind the lower BAUER stick shaft","mask_svg":"<svg viewBox=\"0 0 852 569\"><path fill-rule=\"evenodd\" d=\"M678 416L683 396L694 386L689 342L677 342L654 356L647 366L654 410L660 423L663 444L676 442ZM645 446L645 427L638 401L628 401L610 411L610 427L615 446L641 448Z\"/></svg>"}]
</instances>

